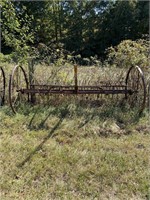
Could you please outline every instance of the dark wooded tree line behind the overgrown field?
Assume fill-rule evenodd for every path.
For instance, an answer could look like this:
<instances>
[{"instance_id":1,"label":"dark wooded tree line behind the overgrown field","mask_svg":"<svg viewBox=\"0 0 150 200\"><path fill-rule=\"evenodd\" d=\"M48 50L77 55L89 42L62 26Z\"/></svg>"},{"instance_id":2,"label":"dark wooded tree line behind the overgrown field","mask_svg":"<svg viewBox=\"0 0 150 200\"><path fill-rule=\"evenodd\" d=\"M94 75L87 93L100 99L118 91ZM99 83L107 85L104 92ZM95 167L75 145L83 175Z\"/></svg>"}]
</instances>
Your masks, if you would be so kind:
<instances>
[{"instance_id":1,"label":"dark wooded tree line behind the overgrown field","mask_svg":"<svg viewBox=\"0 0 150 200\"><path fill-rule=\"evenodd\" d=\"M149 34L149 1L3 0L1 4L3 54L20 56L38 49L41 54L105 59L108 47Z\"/></svg>"}]
</instances>

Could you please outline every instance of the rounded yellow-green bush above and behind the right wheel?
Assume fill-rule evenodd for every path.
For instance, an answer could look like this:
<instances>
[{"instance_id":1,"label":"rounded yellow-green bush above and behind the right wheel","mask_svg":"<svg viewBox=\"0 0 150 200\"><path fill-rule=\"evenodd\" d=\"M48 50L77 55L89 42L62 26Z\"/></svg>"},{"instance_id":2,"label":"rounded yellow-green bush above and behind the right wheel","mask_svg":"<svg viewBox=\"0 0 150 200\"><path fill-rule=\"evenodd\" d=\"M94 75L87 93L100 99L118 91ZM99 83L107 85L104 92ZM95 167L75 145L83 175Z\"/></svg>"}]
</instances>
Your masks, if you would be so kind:
<instances>
[{"instance_id":1,"label":"rounded yellow-green bush above and behind the right wheel","mask_svg":"<svg viewBox=\"0 0 150 200\"><path fill-rule=\"evenodd\" d=\"M148 40L124 40L119 45L108 48L107 53L107 62L116 67L128 68L131 65L147 67L149 65Z\"/></svg>"}]
</instances>

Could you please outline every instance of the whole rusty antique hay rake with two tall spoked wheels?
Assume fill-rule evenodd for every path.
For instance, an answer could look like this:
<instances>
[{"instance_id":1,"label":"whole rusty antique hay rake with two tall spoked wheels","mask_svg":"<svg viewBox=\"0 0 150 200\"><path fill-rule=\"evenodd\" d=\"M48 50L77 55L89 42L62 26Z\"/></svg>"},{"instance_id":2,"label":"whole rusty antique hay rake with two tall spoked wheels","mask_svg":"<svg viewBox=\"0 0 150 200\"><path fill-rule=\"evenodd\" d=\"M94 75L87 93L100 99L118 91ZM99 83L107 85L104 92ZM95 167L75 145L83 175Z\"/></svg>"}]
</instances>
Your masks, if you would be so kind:
<instances>
[{"instance_id":1,"label":"whole rusty antique hay rake with two tall spoked wheels","mask_svg":"<svg viewBox=\"0 0 150 200\"><path fill-rule=\"evenodd\" d=\"M22 66L15 66L9 80L9 103L14 113L23 102L30 102L33 95L123 95L130 107L136 107L141 114L146 101L146 86L140 67L132 66L127 72L124 84L98 86L78 85L77 66L74 66L74 85L29 84L27 73Z\"/></svg>"}]
</instances>

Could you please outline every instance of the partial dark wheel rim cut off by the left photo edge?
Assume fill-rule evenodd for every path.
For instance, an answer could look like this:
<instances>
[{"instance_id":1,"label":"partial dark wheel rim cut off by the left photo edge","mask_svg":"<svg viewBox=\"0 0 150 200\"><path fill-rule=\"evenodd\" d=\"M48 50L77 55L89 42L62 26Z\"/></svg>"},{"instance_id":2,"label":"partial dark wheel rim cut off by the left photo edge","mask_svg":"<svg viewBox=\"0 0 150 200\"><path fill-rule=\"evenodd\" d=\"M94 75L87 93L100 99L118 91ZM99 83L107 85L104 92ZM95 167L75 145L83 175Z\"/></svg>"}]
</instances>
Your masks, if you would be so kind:
<instances>
[{"instance_id":1,"label":"partial dark wheel rim cut off by the left photo edge","mask_svg":"<svg viewBox=\"0 0 150 200\"><path fill-rule=\"evenodd\" d=\"M5 88L6 88L5 73L4 73L3 68L0 67L0 106L4 105Z\"/></svg>"}]
</instances>

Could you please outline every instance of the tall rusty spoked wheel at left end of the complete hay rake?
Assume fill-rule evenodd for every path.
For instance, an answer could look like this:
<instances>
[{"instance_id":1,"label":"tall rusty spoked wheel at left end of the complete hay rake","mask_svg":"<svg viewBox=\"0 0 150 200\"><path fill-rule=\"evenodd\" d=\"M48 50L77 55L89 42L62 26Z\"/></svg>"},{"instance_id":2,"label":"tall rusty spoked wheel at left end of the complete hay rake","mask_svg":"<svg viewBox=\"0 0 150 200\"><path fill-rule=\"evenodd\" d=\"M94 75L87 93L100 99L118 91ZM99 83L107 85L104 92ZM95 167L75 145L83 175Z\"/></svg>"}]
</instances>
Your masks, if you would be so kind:
<instances>
[{"instance_id":1,"label":"tall rusty spoked wheel at left end of the complete hay rake","mask_svg":"<svg viewBox=\"0 0 150 200\"><path fill-rule=\"evenodd\" d=\"M9 80L9 103L14 113L29 101L29 94L23 93L23 89L28 89L28 86L25 70L21 66L15 66Z\"/></svg>"}]
</instances>

